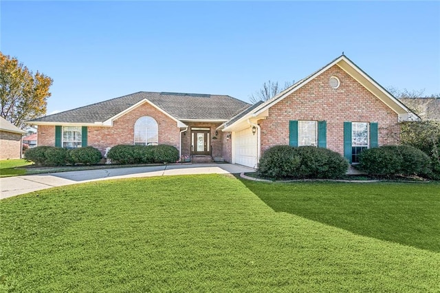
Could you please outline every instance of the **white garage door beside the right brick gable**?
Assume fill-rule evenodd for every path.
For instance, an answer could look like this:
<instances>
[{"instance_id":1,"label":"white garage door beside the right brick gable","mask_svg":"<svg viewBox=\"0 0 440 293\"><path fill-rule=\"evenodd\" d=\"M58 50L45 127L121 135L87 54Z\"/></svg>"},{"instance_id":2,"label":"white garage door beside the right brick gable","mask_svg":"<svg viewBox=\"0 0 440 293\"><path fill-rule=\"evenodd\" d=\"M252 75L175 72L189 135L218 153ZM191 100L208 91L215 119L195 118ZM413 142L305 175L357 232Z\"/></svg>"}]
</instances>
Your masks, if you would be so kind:
<instances>
[{"instance_id":1,"label":"white garage door beside the right brick gable","mask_svg":"<svg viewBox=\"0 0 440 293\"><path fill-rule=\"evenodd\" d=\"M234 143L235 163L251 168L256 168L257 163L257 133L252 134L252 129L237 131L232 139Z\"/></svg>"}]
</instances>

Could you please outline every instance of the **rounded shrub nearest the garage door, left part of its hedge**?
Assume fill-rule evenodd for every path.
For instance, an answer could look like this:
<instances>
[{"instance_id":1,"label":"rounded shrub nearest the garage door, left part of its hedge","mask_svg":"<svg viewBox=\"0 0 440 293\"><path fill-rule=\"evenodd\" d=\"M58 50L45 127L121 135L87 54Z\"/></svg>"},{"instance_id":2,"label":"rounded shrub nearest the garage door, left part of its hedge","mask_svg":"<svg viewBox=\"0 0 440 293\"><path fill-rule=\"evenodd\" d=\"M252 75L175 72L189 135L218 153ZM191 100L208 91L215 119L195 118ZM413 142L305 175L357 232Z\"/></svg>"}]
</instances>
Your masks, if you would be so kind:
<instances>
[{"instance_id":1,"label":"rounded shrub nearest the garage door, left part of its hedge","mask_svg":"<svg viewBox=\"0 0 440 293\"><path fill-rule=\"evenodd\" d=\"M298 153L292 146L272 146L261 156L256 172L260 177L285 178L298 169L300 161Z\"/></svg>"}]
</instances>

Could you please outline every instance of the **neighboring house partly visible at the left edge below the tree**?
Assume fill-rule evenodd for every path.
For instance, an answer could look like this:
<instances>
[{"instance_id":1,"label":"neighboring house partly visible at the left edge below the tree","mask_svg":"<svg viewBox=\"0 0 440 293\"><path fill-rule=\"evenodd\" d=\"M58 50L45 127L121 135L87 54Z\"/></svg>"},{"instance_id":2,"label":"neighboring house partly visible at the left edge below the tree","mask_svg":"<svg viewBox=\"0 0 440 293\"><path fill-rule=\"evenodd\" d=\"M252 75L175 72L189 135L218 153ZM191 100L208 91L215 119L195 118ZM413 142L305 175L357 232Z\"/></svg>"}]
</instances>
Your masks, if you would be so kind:
<instances>
[{"instance_id":1,"label":"neighboring house partly visible at the left edge below the tree","mask_svg":"<svg viewBox=\"0 0 440 293\"><path fill-rule=\"evenodd\" d=\"M0 117L0 160L21 158L23 131Z\"/></svg>"}]
</instances>

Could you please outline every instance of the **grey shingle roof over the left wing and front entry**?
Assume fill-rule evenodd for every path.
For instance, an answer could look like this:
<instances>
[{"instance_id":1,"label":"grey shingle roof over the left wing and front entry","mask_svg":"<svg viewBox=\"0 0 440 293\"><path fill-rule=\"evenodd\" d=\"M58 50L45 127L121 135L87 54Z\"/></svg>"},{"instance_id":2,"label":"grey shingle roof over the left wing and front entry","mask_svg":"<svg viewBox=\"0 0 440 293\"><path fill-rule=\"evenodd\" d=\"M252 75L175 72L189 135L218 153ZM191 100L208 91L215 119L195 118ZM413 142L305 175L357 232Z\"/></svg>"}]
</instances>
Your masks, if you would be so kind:
<instances>
[{"instance_id":1,"label":"grey shingle roof over the left wing and front entry","mask_svg":"<svg viewBox=\"0 0 440 293\"><path fill-rule=\"evenodd\" d=\"M144 99L178 120L228 120L250 106L231 96L140 91L29 122L104 122Z\"/></svg>"}]
</instances>

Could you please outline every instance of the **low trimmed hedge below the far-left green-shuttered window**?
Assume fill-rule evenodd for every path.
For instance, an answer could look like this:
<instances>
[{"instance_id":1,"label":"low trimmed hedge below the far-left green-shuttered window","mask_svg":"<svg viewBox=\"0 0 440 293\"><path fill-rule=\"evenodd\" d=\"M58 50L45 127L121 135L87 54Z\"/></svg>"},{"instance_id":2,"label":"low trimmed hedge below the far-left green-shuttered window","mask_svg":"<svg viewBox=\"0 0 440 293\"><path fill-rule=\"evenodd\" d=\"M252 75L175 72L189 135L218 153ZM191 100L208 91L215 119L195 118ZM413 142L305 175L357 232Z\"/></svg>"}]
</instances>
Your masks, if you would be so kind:
<instances>
[{"instance_id":1,"label":"low trimmed hedge below the far-left green-shuttered window","mask_svg":"<svg viewBox=\"0 0 440 293\"><path fill-rule=\"evenodd\" d=\"M101 158L101 152L91 146L78 149L63 149L56 146L36 146L25 151L25 159L39 166L98 164Z\"/></svg>"}]
</instances>

